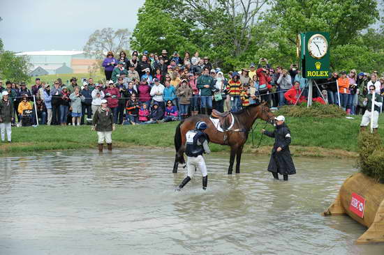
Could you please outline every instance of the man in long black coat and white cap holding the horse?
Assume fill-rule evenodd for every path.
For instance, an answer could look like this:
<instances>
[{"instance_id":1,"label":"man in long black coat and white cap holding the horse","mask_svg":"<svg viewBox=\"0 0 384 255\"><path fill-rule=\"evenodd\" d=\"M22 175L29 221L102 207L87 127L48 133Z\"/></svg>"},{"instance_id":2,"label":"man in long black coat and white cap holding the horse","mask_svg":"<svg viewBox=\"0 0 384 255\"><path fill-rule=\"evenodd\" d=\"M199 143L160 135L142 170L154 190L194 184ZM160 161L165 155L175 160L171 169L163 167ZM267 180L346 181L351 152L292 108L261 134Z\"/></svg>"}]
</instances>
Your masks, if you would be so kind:
<instances>
[{"instance_id":1,"label":"man in long black coat and white cap holding the horse","mask_svg":"<svg viewBox=\"0 0 384 255\"><path fill-rule=\"evenodd\" d=\"M277 116L276 128L274 132L261 130L262 134L274 138L271 159L268 164L268 171L272 172L273 177L279 180L279 173L283 175L283 180L288 180L288 175L295 174L296 169L290 157L290 130L284 121L284 116Z\"/></svg>"}]
</instances>

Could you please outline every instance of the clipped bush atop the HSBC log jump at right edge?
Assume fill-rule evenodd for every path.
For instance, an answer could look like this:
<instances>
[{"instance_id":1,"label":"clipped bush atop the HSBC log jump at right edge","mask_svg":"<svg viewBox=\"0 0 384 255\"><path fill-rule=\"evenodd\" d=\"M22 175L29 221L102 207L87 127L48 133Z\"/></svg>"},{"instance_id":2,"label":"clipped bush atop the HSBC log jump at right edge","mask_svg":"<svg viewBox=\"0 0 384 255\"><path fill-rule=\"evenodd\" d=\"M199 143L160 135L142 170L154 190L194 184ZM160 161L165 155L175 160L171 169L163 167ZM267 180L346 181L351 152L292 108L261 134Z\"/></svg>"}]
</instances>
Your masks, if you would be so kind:
<instances>
[{"instance_id":1,"label":"clipped bush atop the HSBC log jump at right edge","mask_svg":"<svg viewBox=\"0 0 384 255\"><path fill-rule=\"evenodd\" d=\"M384 183L384 147L378 134L361 132L358 139L360 171Z\"/></svg>"}]
</instances>

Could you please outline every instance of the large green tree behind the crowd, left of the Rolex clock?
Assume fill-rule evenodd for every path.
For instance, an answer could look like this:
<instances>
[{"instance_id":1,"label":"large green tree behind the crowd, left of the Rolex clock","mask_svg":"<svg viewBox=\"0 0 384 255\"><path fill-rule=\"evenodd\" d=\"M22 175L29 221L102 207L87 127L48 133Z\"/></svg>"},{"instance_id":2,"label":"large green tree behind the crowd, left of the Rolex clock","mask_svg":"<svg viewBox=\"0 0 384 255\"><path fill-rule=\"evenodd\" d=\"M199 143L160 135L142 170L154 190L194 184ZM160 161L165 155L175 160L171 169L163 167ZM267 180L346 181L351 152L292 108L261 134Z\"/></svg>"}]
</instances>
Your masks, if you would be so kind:
<instances>
[{"instance_id":1,"label":"large green tree behind the crowd, left of the Rolex clock","mask_svg":"<svg viewBox=\"0 0 384 255\"><path fill-rule=\"evenodd\" d=\"M233 68L254 51L254 26L267 0L146 0L131 45L140 50L179 50L207 55Z\"/></svg>"}]
</instances>

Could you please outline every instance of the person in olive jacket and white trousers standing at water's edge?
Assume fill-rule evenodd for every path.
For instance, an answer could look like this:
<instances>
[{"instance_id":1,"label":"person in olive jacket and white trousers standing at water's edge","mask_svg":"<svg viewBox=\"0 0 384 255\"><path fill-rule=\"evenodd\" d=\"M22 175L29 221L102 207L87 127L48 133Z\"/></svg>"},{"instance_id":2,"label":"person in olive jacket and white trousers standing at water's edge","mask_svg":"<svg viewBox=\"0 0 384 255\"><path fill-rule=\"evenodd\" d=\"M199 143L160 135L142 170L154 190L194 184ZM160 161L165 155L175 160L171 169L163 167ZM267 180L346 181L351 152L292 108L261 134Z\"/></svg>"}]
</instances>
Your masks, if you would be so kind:
<instances>
[{"instance_id":1,"label":"person in olive jacket and white trousers standing at water's edge","mask_svg":"<svg viewBox=\"0 0 384 255\"><path fill-rule=\"evenodd\" d=\"M92 130L97 131L98 151L103 151L104 140L107 142L108 150L112 150L112 131L115 130L113 123L113 113L108 108L107 100L101 100L101 106L98 107L92 120Z\"/></svg>"}]
</instances>

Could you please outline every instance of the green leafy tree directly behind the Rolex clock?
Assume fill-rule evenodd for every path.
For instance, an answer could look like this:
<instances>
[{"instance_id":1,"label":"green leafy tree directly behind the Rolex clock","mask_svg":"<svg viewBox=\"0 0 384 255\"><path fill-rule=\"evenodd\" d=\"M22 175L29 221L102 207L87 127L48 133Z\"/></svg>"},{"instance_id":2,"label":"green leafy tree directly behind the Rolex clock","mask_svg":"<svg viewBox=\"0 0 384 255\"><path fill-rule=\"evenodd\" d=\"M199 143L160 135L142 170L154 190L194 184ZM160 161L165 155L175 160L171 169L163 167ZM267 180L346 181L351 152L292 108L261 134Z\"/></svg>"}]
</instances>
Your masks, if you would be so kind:
<instances>
[{"instance_id":1,"label":"green leafy tree directly behind the Rolex clock","mask_svg":"<svg viewBox=\"0 0 384 255\"><path fill-rule=\"evenodd\" d=\"M331 56L354 58L355 52L341 54L341 51L356 47L341 46L359 45L362 31L379 17L376 0L274 0L273 3L264 16L272 27L266 36L281 55L289 56L290 63L296 62L295 37L305 31L329 32ZM332 57L333 68L339 67L339 60Z\"/></svg>"}]
</instances>

